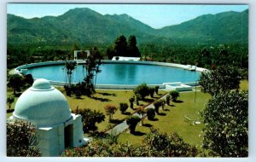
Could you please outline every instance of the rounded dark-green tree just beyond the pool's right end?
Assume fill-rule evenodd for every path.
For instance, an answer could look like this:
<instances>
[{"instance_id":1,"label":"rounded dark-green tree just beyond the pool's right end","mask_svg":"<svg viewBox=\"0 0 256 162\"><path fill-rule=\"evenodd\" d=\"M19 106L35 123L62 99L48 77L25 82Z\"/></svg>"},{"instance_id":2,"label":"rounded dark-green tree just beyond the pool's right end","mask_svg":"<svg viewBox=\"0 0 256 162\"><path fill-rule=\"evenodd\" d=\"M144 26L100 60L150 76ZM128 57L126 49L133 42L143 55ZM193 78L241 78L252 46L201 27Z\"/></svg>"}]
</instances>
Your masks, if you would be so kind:
<instances>
[{"instance_id":1,"label":"rounded dark-green tree just beyond the pool's right end","mask_svg":"<svg viewBox=\"0 0 256 162\"><path fill-rule=\"evenodd\" d=\"M222 66L216 70L202 72L199 84L202 92L213 96L239 89L240 81L241 75L236 67Z\"/></svg>"}]
</instances>

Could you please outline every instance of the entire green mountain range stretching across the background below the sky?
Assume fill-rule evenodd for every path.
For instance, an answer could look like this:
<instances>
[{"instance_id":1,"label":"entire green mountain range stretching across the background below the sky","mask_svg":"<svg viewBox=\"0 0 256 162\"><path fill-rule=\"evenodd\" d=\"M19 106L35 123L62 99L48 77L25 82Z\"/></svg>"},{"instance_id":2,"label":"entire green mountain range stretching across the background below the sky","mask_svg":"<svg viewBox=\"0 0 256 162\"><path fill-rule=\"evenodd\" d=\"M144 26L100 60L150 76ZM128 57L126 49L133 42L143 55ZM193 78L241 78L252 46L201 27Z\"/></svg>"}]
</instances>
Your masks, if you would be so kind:
<instances>
[{"instance_id":1,"label":"entire green mountain range stretching across the background below the sky","mask_svg":"<svg viewBox=\"0 0 256 162\"><path fill-rule=\"evenodd\" d=\"M25 19L7 17L8 43L47 45L109 44L120 35L138 43L239 43L248 39L248 10L205 14L175 26L154 29L127 14L99 14L87 8L60 16Z\"/></svg>"}]
</instances>

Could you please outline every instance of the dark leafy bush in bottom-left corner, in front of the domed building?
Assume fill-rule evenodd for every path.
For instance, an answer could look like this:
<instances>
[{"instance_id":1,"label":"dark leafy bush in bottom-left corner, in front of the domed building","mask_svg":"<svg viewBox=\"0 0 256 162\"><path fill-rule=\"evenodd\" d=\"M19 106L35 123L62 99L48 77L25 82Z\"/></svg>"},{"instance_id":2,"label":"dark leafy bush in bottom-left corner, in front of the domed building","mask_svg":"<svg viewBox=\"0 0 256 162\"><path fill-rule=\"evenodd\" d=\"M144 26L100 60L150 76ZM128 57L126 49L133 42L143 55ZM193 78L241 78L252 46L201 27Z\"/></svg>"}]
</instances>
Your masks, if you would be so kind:
<instances>
[{"instance_id":1,"label":"dark leafy bush in bottom-left corner, in front of the domed building","mask_svg":"<svg viewBox=\"0 0 256 162\"><path fill-rule=\"evenodd\" d=\"M26 122L7 123L7 156L41 156L38 148L38 136L34 125Z\"/></svg>"}]
</instances>

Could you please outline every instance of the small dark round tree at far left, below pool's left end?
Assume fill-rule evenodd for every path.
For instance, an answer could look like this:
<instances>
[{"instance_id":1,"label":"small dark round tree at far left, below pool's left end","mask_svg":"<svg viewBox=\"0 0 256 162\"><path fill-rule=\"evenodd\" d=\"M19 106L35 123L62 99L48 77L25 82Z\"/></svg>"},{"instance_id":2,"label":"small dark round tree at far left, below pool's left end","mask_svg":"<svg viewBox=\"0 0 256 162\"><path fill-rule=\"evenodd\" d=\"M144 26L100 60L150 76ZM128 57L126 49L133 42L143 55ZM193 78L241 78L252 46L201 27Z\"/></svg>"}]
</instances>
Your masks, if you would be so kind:
<instances>
[{"instance_id":1,"label":"small dark round tree at far left, below pool's left end","mask_svg":"<svg viewBox=\"0 0 256 162\"><path fill-rule=\"evenodd\" d=\"M23 86L22 77L19 74L10 75L8 85L14 90L14 95L16 95L16 91L20 91L20 88Z\"/></svg>"}]
</instances>

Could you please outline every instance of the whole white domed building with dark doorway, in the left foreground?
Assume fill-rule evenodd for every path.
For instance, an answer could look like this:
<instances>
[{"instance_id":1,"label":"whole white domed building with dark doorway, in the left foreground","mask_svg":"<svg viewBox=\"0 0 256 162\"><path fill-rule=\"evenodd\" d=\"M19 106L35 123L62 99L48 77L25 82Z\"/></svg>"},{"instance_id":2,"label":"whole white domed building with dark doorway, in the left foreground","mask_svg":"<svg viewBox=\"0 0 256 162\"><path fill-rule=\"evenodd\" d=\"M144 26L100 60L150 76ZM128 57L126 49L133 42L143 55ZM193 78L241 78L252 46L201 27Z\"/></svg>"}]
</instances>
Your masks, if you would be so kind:
<instances>
[{"instance_id":1,"label":"whole white domed building with dark doorway, in the left foreground","mask_svg":"<svg viewBox=\"0 0 256 162\"><path fill-rule=\"evenodd\" d=\"M71 113L66 97L44 78L37 79L20 95L12 118L37 127L42 156L58 156L65 148L79 147L88 141L81 116Z\"/></svg>"}]
</instances>

